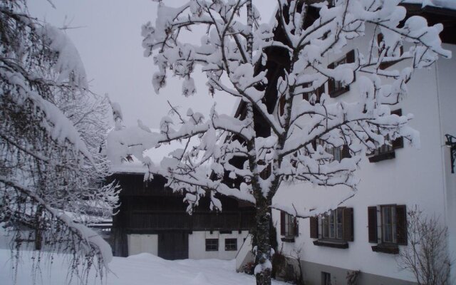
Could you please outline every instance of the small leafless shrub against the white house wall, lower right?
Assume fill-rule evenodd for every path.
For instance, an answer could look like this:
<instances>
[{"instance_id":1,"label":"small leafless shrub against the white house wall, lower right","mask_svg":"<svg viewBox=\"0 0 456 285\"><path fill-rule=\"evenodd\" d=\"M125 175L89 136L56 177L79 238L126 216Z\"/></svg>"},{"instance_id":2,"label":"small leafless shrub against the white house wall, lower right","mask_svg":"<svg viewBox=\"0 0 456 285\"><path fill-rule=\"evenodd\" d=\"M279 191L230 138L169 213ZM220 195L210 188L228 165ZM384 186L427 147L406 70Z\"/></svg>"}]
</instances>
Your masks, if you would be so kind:
<instances>
[{"instance_id":1,"label":"small leafless shrub against the white house wall, lower right","mask_svg":"<svg viewBox=\"0 0 456 285\"><path fill-rule=\"evenodd\" d=\"M408 246L400 249L400 268L412 271L419 285L451 284L447 227L437 217L425 216L419 207L407 214Z\"/></svg>"}]
</instances>

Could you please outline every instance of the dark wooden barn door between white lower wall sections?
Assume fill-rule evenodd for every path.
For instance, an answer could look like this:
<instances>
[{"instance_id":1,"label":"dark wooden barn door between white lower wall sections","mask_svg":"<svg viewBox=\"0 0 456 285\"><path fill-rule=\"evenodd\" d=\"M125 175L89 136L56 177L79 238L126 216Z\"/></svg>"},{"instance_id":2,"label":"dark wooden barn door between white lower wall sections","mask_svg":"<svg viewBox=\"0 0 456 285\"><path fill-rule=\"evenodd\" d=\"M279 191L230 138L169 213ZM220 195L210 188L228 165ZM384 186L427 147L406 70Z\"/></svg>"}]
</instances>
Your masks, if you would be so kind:
<instances>
[{"instance_id":1,"label":"dark wooden barn door between white lower wall sections","mask_svg":"<svg viewBox=\"0 0 456 285\"><path fill-rule=\"evenodd\" d=\"M188 259L187 232L161 232L158 234L158 256L162 259Z\"/></svg>"}]
</instances>

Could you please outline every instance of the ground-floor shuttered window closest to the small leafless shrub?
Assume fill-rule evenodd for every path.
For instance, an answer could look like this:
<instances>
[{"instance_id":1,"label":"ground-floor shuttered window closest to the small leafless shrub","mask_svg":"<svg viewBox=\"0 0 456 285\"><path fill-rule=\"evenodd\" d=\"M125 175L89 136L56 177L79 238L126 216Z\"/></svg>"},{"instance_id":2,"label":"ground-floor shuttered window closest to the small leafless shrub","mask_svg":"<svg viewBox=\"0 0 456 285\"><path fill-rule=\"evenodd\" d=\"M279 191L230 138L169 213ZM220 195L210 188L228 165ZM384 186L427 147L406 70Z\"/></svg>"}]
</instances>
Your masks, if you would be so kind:
<instances>
[{"instance_id":1,"label":"ground-floor shuttered window closest to the small leafless shrub","mask_svg":"<svg viewBox=\"0 0 456 285\"><path fill-rule=\"evenodd\" d=\"M405 205L389 204L368 207L368 233L369 242L377 243L372 247L374 252L398 254L398 245L407 244Z\"/></svg>"}]
</instances>

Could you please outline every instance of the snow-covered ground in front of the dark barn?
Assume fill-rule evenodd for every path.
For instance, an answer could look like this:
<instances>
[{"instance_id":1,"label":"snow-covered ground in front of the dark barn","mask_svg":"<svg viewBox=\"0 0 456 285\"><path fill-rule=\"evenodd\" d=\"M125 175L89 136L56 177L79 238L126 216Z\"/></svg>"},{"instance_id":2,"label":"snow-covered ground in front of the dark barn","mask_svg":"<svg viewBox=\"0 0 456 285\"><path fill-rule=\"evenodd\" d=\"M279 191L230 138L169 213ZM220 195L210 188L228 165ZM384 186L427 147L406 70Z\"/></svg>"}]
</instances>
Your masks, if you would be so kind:
<instances>
[{"instance_id":1,"label":"snow-covered ground in front of the dark barn","mask_svg":"<svg viewBox=\"0 0 456 285\"><path fill-rule=\"evenodd\" d=\"M31 261L26 258L21 262L18 274L18 285L31 285ZM132 257L114 257L109 264L112 273L100 283L92 274L89 284L108 285L239 285L255 284L254 276L236 273L234 260L177 260L168 261L152 254L138 254ZM36 284L66 284L66 266L62 257L56 257L51 270L42 266L41 279ZM49 272L51 271L51 274ZM10 252L0 249L0 284L12 285ZM77 284L76 281L72 284ZM273 281L272 284L285 284Z\"/></svg>"}]
</instances>

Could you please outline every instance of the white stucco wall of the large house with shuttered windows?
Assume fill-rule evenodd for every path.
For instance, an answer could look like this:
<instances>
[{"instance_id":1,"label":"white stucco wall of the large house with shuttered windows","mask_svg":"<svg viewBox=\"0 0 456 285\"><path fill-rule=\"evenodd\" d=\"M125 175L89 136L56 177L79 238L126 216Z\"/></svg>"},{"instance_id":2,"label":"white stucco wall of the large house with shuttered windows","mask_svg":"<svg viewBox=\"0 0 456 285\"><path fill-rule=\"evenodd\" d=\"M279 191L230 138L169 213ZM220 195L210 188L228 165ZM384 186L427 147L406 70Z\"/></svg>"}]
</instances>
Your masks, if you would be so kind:
<instances>
[{"instance_id":1,"label":"white stucco wall of the large house with shuttered windows","mask_svg":"<svg viewBox=\"0 0 456 285\"><path fill-rule=\"evenodd\" d=\"M354 46L363 46L363 42L358 40ZM351 48L353 46L345 51ZM445 48L456 55L455 46L445 45ZM338 57L328 58L328 63ZM442 146L445 133L456 135L455 68L455 59L441 58L437 66L415 71L408 83L408 98L391 107L391 110L401 108L403 114L415 115L410 125L420 132L420 148L410 147L405 141L403 148L395 150L392 160L371 163L366 158L361 162L361 170L357 173L361 178L358 192L341 205L354 209L354 242L348 243L349 248L315 246L314 239L309 237L309 219L300 219L299 237L294 243L283 244L285 254L293 255L295 248L302 247L301 259L305 261L413 281L408 271L400 271L394 254L373 252L373 244L368 243L367 208L379 204L407 204L409 208L418 204L425 213L442 217L442 222L446 221L450 229L450 250L456 252L456 174L450 175L449 151ZM357 100L356 89L357 82L338 100ZM347 192L343 187L283 184L274 202L292 201L295 206L312 209L324 204L331 206ZM452 217L451 221L448 217ZM278 211L273 211L273 219L279 225Z\"/></svg>"}]
</instances>

